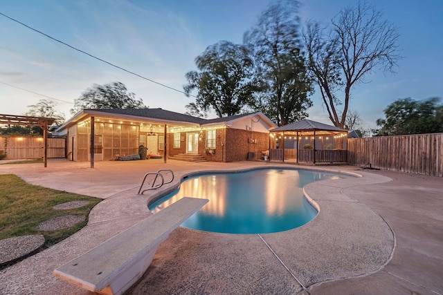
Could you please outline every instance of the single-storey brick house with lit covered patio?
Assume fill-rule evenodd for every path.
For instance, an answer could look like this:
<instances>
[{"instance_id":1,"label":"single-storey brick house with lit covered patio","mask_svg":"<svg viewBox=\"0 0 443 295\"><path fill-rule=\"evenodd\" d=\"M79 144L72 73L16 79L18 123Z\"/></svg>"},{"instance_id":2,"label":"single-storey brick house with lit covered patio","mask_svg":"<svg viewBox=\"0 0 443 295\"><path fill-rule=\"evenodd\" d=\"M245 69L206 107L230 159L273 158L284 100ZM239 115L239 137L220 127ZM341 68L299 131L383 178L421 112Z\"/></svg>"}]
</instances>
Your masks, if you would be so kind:
<instances>
[{"instance_id":1,"label":"single-storey brick house with lit covered patio","mask_svg":"<svg viewBox=\"0 0 443 295\"><path fill-rule=\"evenodd\" d=\"M162 108L86 109L57 135L66 136L69 158L79 162L116 160L138 153L142 144L148 155L165 161L198 156L234 162L268 150L269 130L275 127L261 112L207 120Z\"/></svg>"}]
</instances>

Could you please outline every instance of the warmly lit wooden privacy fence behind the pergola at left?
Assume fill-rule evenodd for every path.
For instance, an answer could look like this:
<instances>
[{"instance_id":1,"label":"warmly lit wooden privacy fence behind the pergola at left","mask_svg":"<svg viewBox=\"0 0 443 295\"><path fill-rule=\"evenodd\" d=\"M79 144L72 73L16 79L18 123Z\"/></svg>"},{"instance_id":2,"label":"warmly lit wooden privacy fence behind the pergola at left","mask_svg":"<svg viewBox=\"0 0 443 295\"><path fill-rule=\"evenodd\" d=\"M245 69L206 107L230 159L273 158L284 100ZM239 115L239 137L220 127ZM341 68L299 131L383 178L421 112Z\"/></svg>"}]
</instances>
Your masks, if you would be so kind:
<instances>
[{"instance_id":1,"label":"warmly lit wooden privacy fence behind the pergola at left","mask_svg":"<svg viewBox=\"0 0 443 295\"><path fill-rule=\"evenodd\" d=\"M7 159L43 158L43 137L0 136L0 151ZM66 158L66 137L48 137L48 158Z\"/></svg>"}]
</instances>

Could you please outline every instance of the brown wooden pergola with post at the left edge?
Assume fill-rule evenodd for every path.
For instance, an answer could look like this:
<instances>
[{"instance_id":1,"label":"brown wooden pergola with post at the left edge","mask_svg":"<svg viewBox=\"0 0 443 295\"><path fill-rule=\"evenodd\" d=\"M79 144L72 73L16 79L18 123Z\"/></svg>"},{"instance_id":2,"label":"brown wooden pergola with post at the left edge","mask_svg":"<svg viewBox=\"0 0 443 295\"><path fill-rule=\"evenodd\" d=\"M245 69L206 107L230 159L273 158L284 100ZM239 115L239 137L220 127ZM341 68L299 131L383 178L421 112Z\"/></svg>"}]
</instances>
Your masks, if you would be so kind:
<instances>
[{"instance_id":1,"label":"brown wooden pergola with post at the left edge","mask_svg":"<svg viewBox=\"0 0 443 295\"><path fill-rule=\"evenodd\" d=\"M1 115L0 124L12 124L12 125L27 125L27 126L39 126L43 129L43 163L47 166L47 146L48 146L48 126L54 124L54 118L47 117L29 117L18 115Z\"/></svg>"}]
</instances>

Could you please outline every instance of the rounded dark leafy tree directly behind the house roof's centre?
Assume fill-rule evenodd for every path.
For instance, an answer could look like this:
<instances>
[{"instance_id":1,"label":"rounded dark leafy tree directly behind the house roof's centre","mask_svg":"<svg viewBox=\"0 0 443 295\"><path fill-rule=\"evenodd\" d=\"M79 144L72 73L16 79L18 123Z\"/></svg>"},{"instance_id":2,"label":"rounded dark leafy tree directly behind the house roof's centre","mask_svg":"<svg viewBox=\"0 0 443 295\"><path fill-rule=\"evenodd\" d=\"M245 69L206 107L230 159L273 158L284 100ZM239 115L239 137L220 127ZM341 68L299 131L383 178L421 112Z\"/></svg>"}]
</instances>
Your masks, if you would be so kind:
<instances>
[{"instance_id":1,"label":"rounded dark leafy tree directly behind the house roof's centre","mask_svg":"<svg viewBox=\"0 0 443 295\"><path fill-rule=\"evenodd\" d=\"M188 114L204 117L211 109L217 116L237 115L251 104L256 89L253 59L244 46L219 41L208 46L195 59L199 71L186 73L188 95L197 90L195 103L186 106Z\"/></svg>"}]
</instances>

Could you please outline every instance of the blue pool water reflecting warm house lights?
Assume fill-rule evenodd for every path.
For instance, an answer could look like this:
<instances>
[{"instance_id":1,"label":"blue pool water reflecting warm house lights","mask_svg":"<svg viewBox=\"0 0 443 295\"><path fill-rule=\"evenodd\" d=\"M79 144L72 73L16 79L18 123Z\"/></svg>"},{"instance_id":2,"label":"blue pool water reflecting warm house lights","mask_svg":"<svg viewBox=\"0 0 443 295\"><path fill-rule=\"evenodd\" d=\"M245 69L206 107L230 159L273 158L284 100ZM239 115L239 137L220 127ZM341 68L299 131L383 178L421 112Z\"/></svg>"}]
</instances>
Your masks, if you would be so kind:
<instances>
[{"instance_id":1,"label":"blue pool water reflecting warm house lights","mask_svg":"<svg viewBox=\"0 0 443 295\"><path fill-rule=\"evenodd\" d=\"M179 189L150 204L152 211L168 207L184 196L209 202L182 224L201 231L266 234L305 225L317 211L302 187L309 182L343 175L293 169L258 169L241 173L192 176Z\"/></svg>"}]
</instances>

